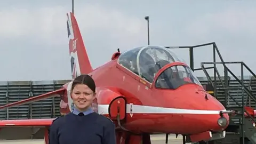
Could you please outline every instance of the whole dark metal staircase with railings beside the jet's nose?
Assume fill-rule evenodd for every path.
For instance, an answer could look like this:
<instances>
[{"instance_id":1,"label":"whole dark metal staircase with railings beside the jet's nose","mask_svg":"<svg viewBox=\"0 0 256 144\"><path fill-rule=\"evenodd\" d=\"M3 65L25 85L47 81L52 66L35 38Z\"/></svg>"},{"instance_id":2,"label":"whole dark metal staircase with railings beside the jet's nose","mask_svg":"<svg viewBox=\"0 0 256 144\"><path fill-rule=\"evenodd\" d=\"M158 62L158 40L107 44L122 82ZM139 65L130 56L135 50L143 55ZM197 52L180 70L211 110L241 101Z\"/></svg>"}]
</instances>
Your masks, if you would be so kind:
<instances>
[{"instance_id":1,"label":"whole dark metal staircase with railings beside the jet's nose","mask_svg":"<svg viewBox=\"0 0 256 144\"><path fill-rule=\"evenodd\" d=\"M202 46L212 45L213 62L202 62L201 68L194 68L194 49ZM214 90L214 97L217 98L227 110L235 111L235 115L230 115L230 124L226 129L226 138L211 141L209 143L253 143L256 144L256 129L254 127L254 116L250 116L249 109L256 108L256 75L253 71L245 65L244 62L225 62L219 49L215 43L207 43L196 46L180 46L180 47L166 47L167 49L189 49L190 68L192 70L203 70L207 77L207 84L210 84ZM218 55L220 62L216 61ZM227 67L227 64L235 64L241 67L241 76L236 76ZM205 67L205 65L213 65L212 67ZM224 68L224 76L221 76L217 65L222 65ZM208 69L213 69L213 77L210 76ZM250 78L244 77L244 69L251 73ZM229 76L230 75L230 76ZM200 79L199 79L200 80ZM202 81L201 81L202 83ZM206 84L205 83L205 84ZM202 83L204 84L204 83ZM245 114L249 115L245 117Z\"/></svg>"}]
</instances>

